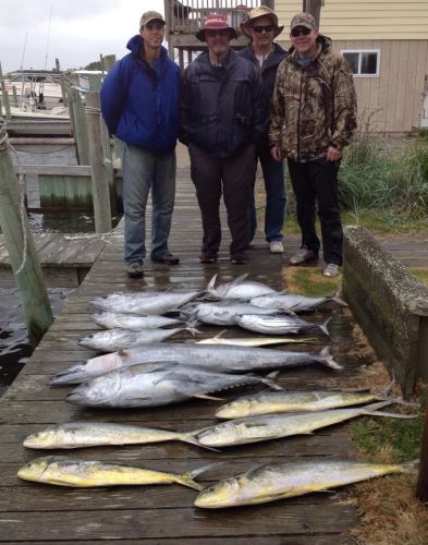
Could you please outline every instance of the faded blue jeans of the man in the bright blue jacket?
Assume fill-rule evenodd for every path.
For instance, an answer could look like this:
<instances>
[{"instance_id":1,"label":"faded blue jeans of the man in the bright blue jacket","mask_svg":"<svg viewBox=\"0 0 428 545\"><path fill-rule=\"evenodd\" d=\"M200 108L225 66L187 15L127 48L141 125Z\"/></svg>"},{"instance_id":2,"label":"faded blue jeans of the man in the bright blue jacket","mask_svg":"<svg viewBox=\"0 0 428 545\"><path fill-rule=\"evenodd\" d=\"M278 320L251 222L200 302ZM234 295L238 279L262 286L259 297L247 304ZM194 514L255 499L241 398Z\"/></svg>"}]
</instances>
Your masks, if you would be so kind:
<instances>
[{"instance_id":1,"label":"faded blue jeans of the man in the bright blue jacket","mask_svg":"<svg viewBox=\"0 0 428 545\"><path fill-rule=\"evenodd\" d=\"M125 216L124 262L142 263L146 257L146 205L151 190L151 257L169 253L175 196L175 150L147 152L123 145L123 209Z\"/></svg>"}]
</instances>

